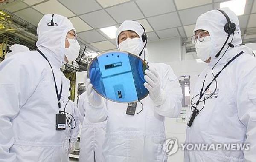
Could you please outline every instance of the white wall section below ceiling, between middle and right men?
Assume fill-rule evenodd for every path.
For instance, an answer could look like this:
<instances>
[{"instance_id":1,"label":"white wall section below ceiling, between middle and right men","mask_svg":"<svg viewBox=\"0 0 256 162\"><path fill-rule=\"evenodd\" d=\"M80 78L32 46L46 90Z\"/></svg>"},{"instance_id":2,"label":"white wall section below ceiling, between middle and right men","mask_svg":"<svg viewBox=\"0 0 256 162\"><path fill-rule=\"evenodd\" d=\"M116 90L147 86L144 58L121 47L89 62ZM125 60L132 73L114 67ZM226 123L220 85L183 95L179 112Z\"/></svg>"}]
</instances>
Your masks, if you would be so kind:
<instances>
[{"instance_id":1,"label":"white wall section below ceiling, between middle and right men","mask_svg":"<svg viewBox=\"0 0 256 162\"><path fill-rule=\"evenodd\" d=\"M149 61L164 63L181 60L181 38L155 40L147 45Z\"/></svg>"}]
</instances>

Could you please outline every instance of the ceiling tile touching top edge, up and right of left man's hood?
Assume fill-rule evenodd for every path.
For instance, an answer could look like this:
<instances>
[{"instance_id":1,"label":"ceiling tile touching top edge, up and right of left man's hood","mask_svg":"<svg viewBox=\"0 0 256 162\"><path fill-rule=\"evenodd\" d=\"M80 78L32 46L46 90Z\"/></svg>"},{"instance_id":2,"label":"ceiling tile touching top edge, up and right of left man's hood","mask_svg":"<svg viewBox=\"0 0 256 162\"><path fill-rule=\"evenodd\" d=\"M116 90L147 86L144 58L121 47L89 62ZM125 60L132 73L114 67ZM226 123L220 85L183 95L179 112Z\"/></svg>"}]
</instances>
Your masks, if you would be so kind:
<instances>
[{"instance_id":1,"label":"ceiling tile touching top edge, up and right of left man's hood","mask_svg":"<svg viewBox=\"0 0 256 162\"><path fill-rule=\"evenodd\" d=\"M84 14L102 9L95 0L58 0L75 14Z\"/></svg>"}]
</instances>

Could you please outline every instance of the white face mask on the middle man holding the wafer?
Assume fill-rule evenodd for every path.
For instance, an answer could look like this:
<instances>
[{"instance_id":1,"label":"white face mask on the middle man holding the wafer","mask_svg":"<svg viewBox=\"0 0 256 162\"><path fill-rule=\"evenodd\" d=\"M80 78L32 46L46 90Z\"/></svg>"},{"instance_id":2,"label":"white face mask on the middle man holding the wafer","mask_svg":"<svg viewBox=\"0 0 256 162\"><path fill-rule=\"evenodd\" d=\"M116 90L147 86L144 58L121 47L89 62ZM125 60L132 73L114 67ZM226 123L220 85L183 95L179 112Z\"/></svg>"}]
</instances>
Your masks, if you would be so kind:
<instances>
[{"instance_id":1,"label":"white face mask on the middle man holding the wafer","mask_svg":"<svg viewBox=\"0 0 256 162\"><path fill-rule=\"evenodd\" d=\"M119 44L120 51L126 51L131 54L139 55L141 49L141 40L140 38L127 38L125 41Z\"/></svg>"}]
</instances>

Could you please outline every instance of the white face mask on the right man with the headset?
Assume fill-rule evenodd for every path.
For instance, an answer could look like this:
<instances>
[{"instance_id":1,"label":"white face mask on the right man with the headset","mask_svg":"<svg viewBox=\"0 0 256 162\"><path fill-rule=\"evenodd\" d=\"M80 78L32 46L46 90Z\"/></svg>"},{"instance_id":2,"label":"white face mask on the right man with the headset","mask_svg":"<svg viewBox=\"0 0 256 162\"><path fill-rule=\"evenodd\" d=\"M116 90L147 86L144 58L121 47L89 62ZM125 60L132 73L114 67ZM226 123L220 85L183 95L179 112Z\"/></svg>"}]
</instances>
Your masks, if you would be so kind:
<instances>
[{"instance_id":1,"label":"white face mask on the right man with the headset","mask_svg":"<svg viewBox=\"0 0 256 162\"><path fill-rule=\"evenodd\" d=\"M195 51L202 61L208 60L211 57L212 53L212 44L210 36L204 37L203 42L197 40L195 44Z\"/></svg>"}]
</instances>

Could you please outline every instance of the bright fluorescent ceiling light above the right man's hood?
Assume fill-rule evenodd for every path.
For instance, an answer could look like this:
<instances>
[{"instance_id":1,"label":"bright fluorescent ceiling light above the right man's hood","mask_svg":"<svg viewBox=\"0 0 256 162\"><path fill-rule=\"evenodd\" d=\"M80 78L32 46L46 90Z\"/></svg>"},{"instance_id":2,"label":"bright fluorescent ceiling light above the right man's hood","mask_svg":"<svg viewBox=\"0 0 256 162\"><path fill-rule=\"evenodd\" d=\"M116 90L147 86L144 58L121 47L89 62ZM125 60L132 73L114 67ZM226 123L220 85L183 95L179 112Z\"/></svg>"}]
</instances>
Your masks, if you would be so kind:
<instances>
[{"instance_id":1,"label":"bright fluorescent ceiling light above the right man's hood","mask_svg":"<svg viewBox=\"0 0 256 162\"><path fill-rule=\"evenodd\" d=\"M227 2L222 2L220 7L228 7L230 10L235 12L237 16L244 14L246 0L230 0Z\"/></svg>"}]
</instances>

